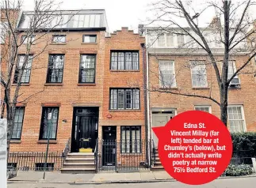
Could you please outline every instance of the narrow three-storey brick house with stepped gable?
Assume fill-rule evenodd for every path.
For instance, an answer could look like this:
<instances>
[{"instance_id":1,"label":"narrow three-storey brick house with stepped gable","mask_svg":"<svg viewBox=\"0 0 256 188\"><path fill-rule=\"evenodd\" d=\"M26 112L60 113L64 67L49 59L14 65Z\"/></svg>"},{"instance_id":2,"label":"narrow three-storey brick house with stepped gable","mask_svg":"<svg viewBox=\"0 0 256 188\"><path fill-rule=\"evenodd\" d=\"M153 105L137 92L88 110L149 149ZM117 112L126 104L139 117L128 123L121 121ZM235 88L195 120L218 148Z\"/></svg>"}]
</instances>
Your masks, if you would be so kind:
<instances>
[{"instance_id":1,"label":"narrow three-storey brick house with stepped gable","mask_svg":"<svg viewBox=\"0 0 256 188\"><path fill-rule=\"evenodd\" d=\"M105 39L103 118L99 137L117 140L117 154L103 158L103 166L117 163L118 169L125 170L147 164L144 40L128 28ZM106 144L102 145L103 149Z\"/></svg>"}]
</instances>

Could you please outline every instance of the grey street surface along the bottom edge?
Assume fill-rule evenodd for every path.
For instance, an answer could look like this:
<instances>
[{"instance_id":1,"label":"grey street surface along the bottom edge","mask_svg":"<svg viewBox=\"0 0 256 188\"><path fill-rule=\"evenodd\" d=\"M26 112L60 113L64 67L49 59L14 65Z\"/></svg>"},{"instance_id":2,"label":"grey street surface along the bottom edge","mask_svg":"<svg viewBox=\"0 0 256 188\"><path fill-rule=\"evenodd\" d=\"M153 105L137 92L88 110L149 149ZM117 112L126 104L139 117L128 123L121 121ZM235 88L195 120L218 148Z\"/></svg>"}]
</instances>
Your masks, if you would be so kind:
<instances>
[{"instance_id":1,"label":"grey street surface along the bottom edge","mask_svg":"<svg viewBox=\"0 0 256 188\"><path fill-rule=\"evenodd\" d=\"M71 183L36 183L36 182L9 182L10 188L155 188L156 186L161 188L255 188L256 178L237 178L237 179L217 179L203 186L189 186L181 182L143 182L143 183L105 183L105 184L71 184Z\"/></svg>"}]
</instances>

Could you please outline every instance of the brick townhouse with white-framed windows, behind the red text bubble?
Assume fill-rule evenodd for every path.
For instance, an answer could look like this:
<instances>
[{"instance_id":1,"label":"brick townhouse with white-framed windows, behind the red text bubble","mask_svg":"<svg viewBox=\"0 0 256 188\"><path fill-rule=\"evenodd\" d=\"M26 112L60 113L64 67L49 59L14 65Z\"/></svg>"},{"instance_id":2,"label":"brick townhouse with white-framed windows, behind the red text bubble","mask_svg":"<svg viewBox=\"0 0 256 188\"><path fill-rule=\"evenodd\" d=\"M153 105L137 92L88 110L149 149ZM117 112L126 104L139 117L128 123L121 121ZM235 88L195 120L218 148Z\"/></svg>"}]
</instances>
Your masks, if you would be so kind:
<instances>
[{"instance_id":1,"label":"brick townhouse with white-framed windows, behind the red text bubble","mask_svg":"<svg viewBox=\"0 0 256 188\"><path fill-rule=\"evenodd\" d=\"M177 28L174 32L178 31ZM143 33L147 43L147 81L148 88L160 90L171 89L187 94L208 96L220 101L220 92L215 72L208 59L208 55L196 44L191 44L189 36L176 35L170 32L159 32L159 28L146 27ZM214 28L204 28L208 38L214 37ZM191 32L191 31L190 31ZM216 32L215 32L216 33ZM213 40L214 41L214 40ZM186 46L188 45L188 46ZM215 41L210 43L212 51L218 61L223 59L224 47ZM246 53L238 52L230 57L229 75L248 59ZM198 63L198 64L197 64ZM194 64L194 66L190 66ZM219 69L221 62L218 64ZM246 66L246 72L254 70L254 62ZM203 79L198 79L197 71ZM253 74L239 74L231 81L228 92L228 129L231 132L256 130L256 80ZM157 149L158 138L152 133L151 127L165 126L166 122L184 111L208 111L220 117L220 107L212 102L197 97L180 96L162 92L148 93L148 137L152 139L153 148ZM157 151L157 150L156 150ZM154 167L162 168L158 153L155 153ZM153 168L154 168L153 167Z\"/></svg>"}]
</instances>

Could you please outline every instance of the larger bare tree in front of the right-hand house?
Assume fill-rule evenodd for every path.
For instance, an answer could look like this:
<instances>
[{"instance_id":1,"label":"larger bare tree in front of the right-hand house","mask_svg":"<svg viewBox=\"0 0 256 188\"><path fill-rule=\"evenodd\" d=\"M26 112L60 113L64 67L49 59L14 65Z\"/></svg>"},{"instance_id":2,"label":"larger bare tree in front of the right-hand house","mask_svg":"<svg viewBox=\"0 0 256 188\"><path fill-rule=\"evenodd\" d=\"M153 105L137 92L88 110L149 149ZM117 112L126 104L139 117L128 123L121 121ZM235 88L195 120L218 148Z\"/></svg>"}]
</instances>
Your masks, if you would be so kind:
<instances>
[{"instance_id":1,"label":"larger bare tree in front of the right-hand house","mask_svg":"<svg viewBox=\"0 0 256 188\"><path fill-rule=\"evenodd\" d=\"M185 36L187 38L185 43L178 39L179 45L176 50L183 51L183 54L194 55L195 58L198 56L198 51L205 54L204 58L208 59L205 67L210 66L214 70L214 79L217 82L220 97L214 98L212 96L212 85L210 85L210 90L206 94L205 92L202 94L201 92L189 92L184 89L172 89L171 79L174 79L174 77L171 77L168 83L163 83L163 85L166 85L166 89L160 89L152 85L149 85L147 89L150 92L165 92L212 100L220 106L220 119L227 126L228 88L232 82L237 81L239 74L255 74L253 68L249 69L250 71L246 69L252 64L256 55L256 22L250 15L250 11L256 8L255 5L256 3L250 0L239 2L230 0L200 1L200 6L196 5L195 1L181 0L159 0L152 4L151 11L155 12L155 15L148 19L150 21L148 25L153 24L154 27L146 27L148 28L147 36L151 38L148 40L148 47L152 47L164 33L177 35L178 37ZM214 13L215 18L212 23L204 26L204 17L207 13ZM233 73L228 73L228 69L231 69L232 66L230 60L238 55L243 55L245 61ZM155 55L155 58L159 60L158 55ZM221 65L219 62L221 62ZM186 66L191 69L200 65L189 62ZM176 70L176 77L182 73L184 68ZM205 81L204 69L195 69L196 77L201 82ZM152 74L158 77L159 81L163 80L161 70L160 74ZM212 80L213 82L214 80Z\"/></svg>"}]
</instances>

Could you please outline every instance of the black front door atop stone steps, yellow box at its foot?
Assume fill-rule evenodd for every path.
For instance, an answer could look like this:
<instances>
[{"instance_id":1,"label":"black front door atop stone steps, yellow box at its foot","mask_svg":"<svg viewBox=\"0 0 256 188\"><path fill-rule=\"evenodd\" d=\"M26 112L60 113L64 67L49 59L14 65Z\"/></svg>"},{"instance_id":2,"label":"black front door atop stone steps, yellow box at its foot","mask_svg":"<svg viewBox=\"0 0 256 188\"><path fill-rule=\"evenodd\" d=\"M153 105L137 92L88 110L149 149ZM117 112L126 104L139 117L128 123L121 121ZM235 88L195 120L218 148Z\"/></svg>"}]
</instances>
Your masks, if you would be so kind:
<instances>
[{"instance_id":1,"label":"black front door atop stone steps, yellow box at its foot","mask_svg":"<svg viewBox=\"0 0 256 188\"><path fill-rule=\"evenodd\" d=\"M97 140L97 119L98 108L75 108L71 152L79 152L79 149L92 149L94 152Z\"/></svg>"}]
</instances>

